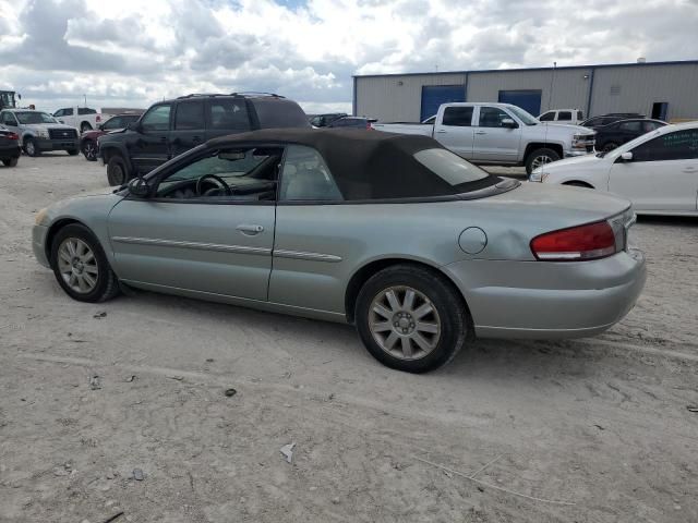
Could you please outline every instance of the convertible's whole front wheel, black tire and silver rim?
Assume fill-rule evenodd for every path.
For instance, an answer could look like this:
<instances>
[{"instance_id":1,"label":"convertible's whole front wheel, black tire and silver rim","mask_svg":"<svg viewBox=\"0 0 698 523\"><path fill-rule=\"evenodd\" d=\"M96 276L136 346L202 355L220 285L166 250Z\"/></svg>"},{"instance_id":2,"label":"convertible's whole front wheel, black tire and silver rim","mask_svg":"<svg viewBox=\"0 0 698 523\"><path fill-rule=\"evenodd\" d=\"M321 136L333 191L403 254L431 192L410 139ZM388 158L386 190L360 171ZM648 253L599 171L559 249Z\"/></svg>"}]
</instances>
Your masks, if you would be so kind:
<instances>
[{"instance_id":1,"label":"convertible's whole front wheel, black tire and silver rim","mask_svg":"<svg viewBox=\"0 0 698 523\"><path fill-rule=\"evenodd\" d=\"M63 291L79 302L97 303L119 293L117 275L85 226L63 227L51 244L51 267Z\"/></svg>"}]
</instances>

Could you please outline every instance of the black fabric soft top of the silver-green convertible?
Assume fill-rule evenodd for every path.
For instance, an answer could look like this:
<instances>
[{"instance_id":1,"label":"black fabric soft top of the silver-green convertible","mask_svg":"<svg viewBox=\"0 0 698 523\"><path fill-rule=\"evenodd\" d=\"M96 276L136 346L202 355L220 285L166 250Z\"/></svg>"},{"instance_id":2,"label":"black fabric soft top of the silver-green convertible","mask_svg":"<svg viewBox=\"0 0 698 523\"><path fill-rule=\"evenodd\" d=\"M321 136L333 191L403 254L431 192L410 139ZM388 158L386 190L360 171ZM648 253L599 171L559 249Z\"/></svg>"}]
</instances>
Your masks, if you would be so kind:
<instances>
[{"instance_id":1,"label":"black fabric soft top of the silver-green convertible","mask_svg":"<svg viewBox=\"0 0 698 523\"><path fill-rule=\"evenodd\" d=\"M484 180L449 185L414 158L424 149L444 149L422 135L350 129L265 129L214 138L209 148L265 145L303 145L324 158L345 199L381 199L446 196L494 185Z\"/></svg>"}]
</instances>

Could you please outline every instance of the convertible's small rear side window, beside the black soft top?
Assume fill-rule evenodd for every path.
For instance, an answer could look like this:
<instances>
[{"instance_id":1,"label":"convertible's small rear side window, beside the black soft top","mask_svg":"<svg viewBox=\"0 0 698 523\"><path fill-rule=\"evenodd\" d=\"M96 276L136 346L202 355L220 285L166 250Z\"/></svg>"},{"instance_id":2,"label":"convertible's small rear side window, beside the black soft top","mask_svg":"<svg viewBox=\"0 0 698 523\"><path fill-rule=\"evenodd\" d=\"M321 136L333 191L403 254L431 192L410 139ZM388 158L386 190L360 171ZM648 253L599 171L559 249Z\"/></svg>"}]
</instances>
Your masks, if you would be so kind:
<instances>
[{"instance_id":1,"label":"convertible's small rear side window, beside the black soft top","mask_svg":"<svg viewBox=\"0 0 698 523\"><path fill-rule=\"evenodd\" d=\"M284 159L279 199L337 202L342 196L320 153L311 147L291 145Z\"/></svg>"}]
</instances>

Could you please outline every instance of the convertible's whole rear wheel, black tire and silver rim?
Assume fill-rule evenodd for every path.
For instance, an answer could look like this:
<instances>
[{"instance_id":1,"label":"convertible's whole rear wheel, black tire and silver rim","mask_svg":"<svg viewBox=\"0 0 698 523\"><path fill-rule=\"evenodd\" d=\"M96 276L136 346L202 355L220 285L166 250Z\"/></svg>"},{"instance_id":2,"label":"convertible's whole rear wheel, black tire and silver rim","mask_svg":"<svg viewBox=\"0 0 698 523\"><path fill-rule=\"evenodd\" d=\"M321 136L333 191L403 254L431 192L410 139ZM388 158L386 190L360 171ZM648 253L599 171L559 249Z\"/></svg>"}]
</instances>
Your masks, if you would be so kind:
<instances>
[{"instance_id":1,"label":"convertible's whole rear wheel, black tire and silver rim","mask_svg":"<svg viewBox=\"0 0 698 523\"><path fill-rule=\"evenodd\" d=\"M468 336L462 296L443 276L414 265L375 273L361 288L357 330L384 365L426 373L450 362Z\"/></svg>"}]
</instances>

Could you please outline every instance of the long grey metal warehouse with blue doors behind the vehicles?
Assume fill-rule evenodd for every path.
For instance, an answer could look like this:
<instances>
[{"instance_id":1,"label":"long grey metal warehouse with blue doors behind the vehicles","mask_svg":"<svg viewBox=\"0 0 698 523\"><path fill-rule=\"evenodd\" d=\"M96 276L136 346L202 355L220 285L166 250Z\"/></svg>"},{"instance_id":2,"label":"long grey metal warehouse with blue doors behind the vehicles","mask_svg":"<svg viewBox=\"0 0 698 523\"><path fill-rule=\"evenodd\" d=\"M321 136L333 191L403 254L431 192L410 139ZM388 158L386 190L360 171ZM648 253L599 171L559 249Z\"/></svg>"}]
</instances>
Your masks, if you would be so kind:
<instances>
[{"instance_id":1,"label":"long grey metal warehouse with blue doors behind the vehicles","mask_svg":"<svg viewBox=\"0 0 698 523\"><path fill-rule=\"evenodd\" d=\"M447 101L502 101L533 115L581 109L698 119L698 60L353 77L358 115L417 122Z\"/></svg>"}]
</instances>

